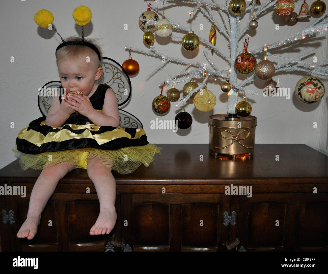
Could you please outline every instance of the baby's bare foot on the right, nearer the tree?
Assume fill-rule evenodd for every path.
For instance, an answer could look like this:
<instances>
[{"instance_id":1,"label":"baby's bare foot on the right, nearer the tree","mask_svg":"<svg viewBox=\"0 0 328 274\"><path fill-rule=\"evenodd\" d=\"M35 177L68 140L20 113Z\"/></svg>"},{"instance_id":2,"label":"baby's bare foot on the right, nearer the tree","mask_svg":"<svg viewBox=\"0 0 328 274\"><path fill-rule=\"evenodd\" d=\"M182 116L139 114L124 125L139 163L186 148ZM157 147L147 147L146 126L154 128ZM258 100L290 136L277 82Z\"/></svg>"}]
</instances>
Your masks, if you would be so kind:
<instances>
[{"instance_id":1,"label":"baby's bare foot on the right, nearer the tree","mask_svg":"<svg viewBox=\"0 0 328 274\"><path fill-rule=\"evenodd\" d=\"M116 219L115 208L101 209L96 223L90 229L90 235L109 234L115 226Z\"/></svg>"}]
</instances>

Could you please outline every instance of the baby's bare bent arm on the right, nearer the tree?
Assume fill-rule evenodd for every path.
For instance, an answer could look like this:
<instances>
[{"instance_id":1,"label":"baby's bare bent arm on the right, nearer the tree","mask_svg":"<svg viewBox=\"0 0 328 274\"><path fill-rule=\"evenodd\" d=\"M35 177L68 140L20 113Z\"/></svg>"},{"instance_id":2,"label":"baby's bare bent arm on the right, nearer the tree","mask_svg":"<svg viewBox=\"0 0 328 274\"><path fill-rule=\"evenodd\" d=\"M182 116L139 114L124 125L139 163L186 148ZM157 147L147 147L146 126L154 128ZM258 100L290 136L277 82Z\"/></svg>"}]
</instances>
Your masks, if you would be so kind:
<instances>
[{"instance_id":1,"label":"baby's bare bent arm on the right, nearer the tree","mask_svg":"<svg viewBox=\"0 0 328 274\"><path fill-rule=\"evenodd\" d=\"M118 127L120 118L117 99L115 93L110 88L106 91L102 112L103 114L94 109L94 111L88 115L88 118L97 126Z\"/></svg>"}]
</instances>

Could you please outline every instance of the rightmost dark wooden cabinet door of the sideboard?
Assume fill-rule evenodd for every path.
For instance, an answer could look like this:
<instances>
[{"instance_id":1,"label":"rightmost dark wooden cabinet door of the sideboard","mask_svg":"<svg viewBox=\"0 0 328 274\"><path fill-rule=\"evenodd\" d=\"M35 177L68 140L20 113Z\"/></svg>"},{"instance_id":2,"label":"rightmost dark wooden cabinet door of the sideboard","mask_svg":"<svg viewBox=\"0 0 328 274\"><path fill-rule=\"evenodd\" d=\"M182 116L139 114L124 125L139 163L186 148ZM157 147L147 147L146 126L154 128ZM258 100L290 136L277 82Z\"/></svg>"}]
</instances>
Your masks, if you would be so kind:
<instances>
[{"instance_id":1,"label":"rightmost dark wooden cabinet door of the sideboard","mask_svg":"<svg viewBox=\"0 0 328 274\"><path fill-rule=\"evenodd\" d=\"M238 248L247 251L327 250L327 193L238 196Z\"/></svg>"}]
</instances>

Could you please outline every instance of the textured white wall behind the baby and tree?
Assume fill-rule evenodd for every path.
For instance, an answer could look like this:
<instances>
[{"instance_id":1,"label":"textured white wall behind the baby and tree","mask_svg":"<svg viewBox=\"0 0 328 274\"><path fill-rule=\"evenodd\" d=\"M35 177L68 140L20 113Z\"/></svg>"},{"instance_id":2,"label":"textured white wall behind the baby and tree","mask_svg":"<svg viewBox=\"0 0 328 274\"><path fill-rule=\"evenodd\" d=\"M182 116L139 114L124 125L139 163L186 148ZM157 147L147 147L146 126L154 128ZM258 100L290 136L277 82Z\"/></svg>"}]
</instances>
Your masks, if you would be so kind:
<instances>
[{"instance_id":1,"label":"textured white wall behind the baby and tree","mask_svg":"<svg viewBox=\"0 0 328 274\"><path fill-rule=\"evenodd\" d=\"M218 1L223 3L224 1ZM297 1L295 11L298 13L302 1ZM310 1L311 2L311 1ZM326 2L326 1L325 1ZM54 15L54 25L63 37L77 35L79 27L75 25L72 11L79 5L86 5L92 11L91 26L86 27L87 37L101 38L104 56L113 58L122 64L128 57L124 46L132 46L147 50L142 41L143 32L138 26L140 14L146 10L147 1L144 0L95 0L95 1L66 1L66 0L36 0L28 1L4 1L0 7L0 37L1 37L1 66L0 66L0 90L1 90L1 128L0 133L0 168L15 160L11 151L18 132L26 127L30 121L41 116L37 105L38 88L44 83L59 80L55 63L55 48L60 43L56 34L43 38L46 30L41 30L34 23L33 17L39 9L48 9ZM311 3L310 3L311 4ZM156 5L156 4L155 4ZM160 5L161 6L161 5ZM167 5L165 14L167 17L180 24L187 25L189 20L188 11L191 10L186 4L180 7ZM310 18L310 22L315 19ZM219 21L219 20L218 20ZM243 21L241 25L244 26ZM204 30L199 30L199 24L204 24ZM309 23L305 20L298 22L293 27L284 24L282 17L274 11L258 18L259 27L251 32L249 51L264 44L270 44L276 40L288 38L293 33L301 30ZM275 24L279 24L279 30L275 30ZM128 30L124 30L124 24L128 24ZM193 20L192 28L204 37L208 37L211 23L201 13L197 13ZM40 31L44 32L43 37ZM321 38L305 39L297 44L275 51L277 55L297 57L313 47L317 48L318 62L327 60L327 33ZM217 33L216 45L228 53L227 41ZM204 63L201 45L196 52L189 53L182 49L180 41L172 41L171 38L159 38L155 36L155 48L169 56L179 56ZM242 47L240 42L239 47ZM210 50L208 50L210 53ZM14 63L10 63L10 57L14 56ZM131 77L132 98L123 109L138 117L145 128L151 143L171 144L208 144L209 127L208 117L213 114L225 113L227 109L227 97L217 82L209 82L208 88L215 93L217 103L214 109L203 113L195 109L193 103L185 106L186 111L193 117L193 124L187 130L151 130L151 120L167 119L174 120L175 115L181 111L171 104L170 111L165 116L156 115L152 110L152 101L159 95L160 82L168 78L168 74L179 73L183 67L176 64L168 64L162 71L153 76L149 82L145 79L149 73L161 64L161 59L146 57L132 53L133 59L138 61L140 72ZM210 55L211 56L211 55ZM212 58L218 68L228 68L228 65L216 55ZM279 62L278 59L270 59ZM257 60L259 61L259 60ZM313 58L306 60L312 62ZM282 60L280 60L282 63ZM256 143L257 144L307 144L328 155L327 148L327 116L328 116L328 92L323 99L316 104L307 105L299 102L293 95L295 84L305 74L280 75L281 86L291 87L290 100L282 97L266 98L261 94L262 80L256 80L255 84L248 86L257 90L259 95L251 97L252 115L257 117ZM241 77L240 77L241 79ZM277 74L274 80L277 79ZM327 81L325 81L328 88ZM183 86L175 86L182 90ZM170 87L164 88L164 93ZM182 93L181 93L182 96ZM240 98L241 100L241 98ZM14 128L10 128L10 122L14 122ZM318 128L313 128L313 122L318 123Z\"/></svg>"}]
</instances>

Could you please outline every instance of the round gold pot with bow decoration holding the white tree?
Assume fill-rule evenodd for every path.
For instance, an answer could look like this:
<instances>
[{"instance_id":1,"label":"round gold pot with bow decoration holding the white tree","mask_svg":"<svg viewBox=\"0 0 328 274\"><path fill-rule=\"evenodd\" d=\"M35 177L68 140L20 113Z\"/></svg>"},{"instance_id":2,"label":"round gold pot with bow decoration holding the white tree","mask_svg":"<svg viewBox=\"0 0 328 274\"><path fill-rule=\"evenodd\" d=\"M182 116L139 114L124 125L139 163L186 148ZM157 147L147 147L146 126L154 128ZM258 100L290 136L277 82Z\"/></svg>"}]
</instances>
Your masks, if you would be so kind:
<instances>
[{"instance_id":1,"label":"round gold pot with bow decoration holding the white tree","mask_svg":"<svg viewBox=\"0 0 328 274\"><path fill-rule=\"evenodd\" d=\"M237 115L235 115L237 116ZM215 114L209 118L210 150L228 155L254 152L256 117L228 118L227 114Z\"/></svg>"}]
</instances>

